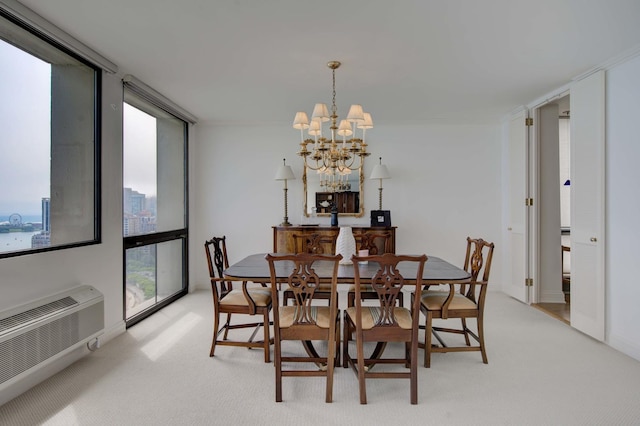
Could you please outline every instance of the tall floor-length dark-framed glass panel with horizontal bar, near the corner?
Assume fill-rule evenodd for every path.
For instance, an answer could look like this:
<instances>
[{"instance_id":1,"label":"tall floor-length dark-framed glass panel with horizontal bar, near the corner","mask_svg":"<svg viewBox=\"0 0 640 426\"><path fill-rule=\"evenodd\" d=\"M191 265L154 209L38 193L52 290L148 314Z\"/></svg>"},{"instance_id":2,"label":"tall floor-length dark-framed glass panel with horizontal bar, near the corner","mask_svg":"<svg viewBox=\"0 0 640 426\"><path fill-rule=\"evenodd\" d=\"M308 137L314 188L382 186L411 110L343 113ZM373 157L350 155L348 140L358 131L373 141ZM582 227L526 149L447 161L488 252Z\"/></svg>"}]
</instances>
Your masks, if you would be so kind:
<instances>
[{"instance_id":1,"label":"tall floor-length dark-framed glass panel with horizontal bar, near the corner","mask_svg":"<svg viewBox=\"0 0 640 426\"><path fill-rule=\"evenodd\" d=\"M187 292L185 121L125 86L125 321L133 325Z\"/></svg>"}]
</instances>

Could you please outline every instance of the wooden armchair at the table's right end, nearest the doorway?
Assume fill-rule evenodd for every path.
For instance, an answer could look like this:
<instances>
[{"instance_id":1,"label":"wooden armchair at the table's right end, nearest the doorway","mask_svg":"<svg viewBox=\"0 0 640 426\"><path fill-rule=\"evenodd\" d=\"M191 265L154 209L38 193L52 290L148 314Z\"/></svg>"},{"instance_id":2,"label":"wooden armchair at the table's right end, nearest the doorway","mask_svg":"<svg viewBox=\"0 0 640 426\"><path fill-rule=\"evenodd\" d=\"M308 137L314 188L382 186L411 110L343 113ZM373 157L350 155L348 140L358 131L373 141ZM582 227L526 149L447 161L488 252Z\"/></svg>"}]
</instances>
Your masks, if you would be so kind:
<instances>
[{"instance_id":1,"label":"wooden armchair at the table's right end, nearest the doorway","mask_svg":"<svg viewBox=\"0 0 640 426\"><path fill-rule=\"evenodd\" d=\"M434 352L468 352L479 351L482 362L487 361L484 342L484 304L487 296L487 283L491 272L494 244L481 238L467 237L467 251L464 270L471 274L471 280L465 284L448 284L449 290L427 289L422 293L420 310L425 315L424 366L431 366L431 354ZM418 296L416 296L418 297ZM467 319L476 319L477 333L471 331ZM460 328L434 326L433 320L460 319ZM464 335L465 345L447 345L439 333ZM441 346L432 345L434 336ZM477 345L472 346L469 337L473 337Z\"/></svg>"}]
</instances>

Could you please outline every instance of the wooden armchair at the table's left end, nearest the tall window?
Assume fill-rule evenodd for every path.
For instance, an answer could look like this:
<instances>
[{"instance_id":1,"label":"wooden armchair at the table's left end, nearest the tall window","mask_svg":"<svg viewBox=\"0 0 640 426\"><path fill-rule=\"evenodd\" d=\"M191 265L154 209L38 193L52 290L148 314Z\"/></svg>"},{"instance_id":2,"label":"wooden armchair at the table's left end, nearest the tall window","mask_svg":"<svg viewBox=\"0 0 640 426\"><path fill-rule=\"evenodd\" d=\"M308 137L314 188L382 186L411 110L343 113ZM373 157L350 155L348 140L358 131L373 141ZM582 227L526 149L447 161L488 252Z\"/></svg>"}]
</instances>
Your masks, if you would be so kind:
<instances>
[{"instance_id":1,"label":"wooden armchair at the table's left end, nearest the tall window","mask_svg":"<svg viewBox=\"0 0 640 426\"><path fill-rule=\"evenodd\" d=\"M213 342L209 356L213 356L217 345L262 348L264 362L270 361L269 313L272 308L271 290L263 283L261 287L248 287L242 281L240 288L234 288L233 281L223 278L223 271L229 267L226 237L213 237L204 243L213 293ZM227 314L220 327L220 314ZM262 321L253 323L231 323L232 314L262 315ZM260 327L264 330L263 340L253 341ZM248 341L228 340L229 330L255 328ZM223 334L220 338L220 334Z\"/></svg>"}]
</instances>

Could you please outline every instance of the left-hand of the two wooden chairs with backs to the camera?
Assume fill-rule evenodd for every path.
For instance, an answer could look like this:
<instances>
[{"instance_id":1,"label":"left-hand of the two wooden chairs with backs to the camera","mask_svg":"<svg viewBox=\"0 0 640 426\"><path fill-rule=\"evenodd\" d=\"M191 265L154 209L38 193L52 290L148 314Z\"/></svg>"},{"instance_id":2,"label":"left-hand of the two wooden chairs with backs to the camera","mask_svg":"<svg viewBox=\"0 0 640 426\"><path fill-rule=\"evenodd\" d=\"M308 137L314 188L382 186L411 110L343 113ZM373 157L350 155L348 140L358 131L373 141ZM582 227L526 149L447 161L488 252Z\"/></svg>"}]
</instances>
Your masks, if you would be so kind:
<instances>
[{"instance_id":1,"label":"left-hand of the two wooden chairs with backs to the camera","mask_svg":"<svg viewBox=\"0 0 640 426\"><path fill-rule=\"evenodd\" d=\"M289 255L265 256L269 263L271 275L271 298L278 298L278 285L286 284L293 293L292 306L274 304L274 364L276 372L276 402L282 401L283 377L325 377L325 401L333 399L333 370L338 358L337 346L340 344L340 321L338 311L337 277L338 264L341 255L321 255L299 253ZM330 265L331 275L322 274L320 277L314 268ZM280 274L278 274L280 272ZM312 305L314 293L321 284L331 286L329 306ZM315 351L308 351L307 355L296 353L283 354L282 343L287 340L297 340L309 343L323 340L327 342L327 354L318 356ZM305 347L306 348L306 347ZM311 368L303 368L302 364L313 364ZM297 364L300 367L283 369L283 364ZM320 368L318 368L320 367Z\"/></svg>"}]
</instances>

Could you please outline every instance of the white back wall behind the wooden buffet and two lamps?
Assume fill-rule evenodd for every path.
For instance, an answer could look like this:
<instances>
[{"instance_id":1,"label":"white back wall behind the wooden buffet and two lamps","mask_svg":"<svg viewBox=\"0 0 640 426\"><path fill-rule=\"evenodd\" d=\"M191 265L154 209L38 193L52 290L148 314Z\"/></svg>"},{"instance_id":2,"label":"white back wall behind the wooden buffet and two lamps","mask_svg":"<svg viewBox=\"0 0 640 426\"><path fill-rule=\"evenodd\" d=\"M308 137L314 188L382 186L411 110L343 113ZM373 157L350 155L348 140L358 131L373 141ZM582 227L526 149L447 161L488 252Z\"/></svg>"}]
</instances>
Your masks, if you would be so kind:
<instances>
[{"instance_id":1,"label":"white back wall behind the wooden buffet and two lamps","mask_svg":"<svg viewBox=\"0 0 640 426\"><path fill-rule=\"evenodd\" d=\"M272 249L272 226L284 216L283 183L273 180L287 159L289 221L300 223L303 206L299 132L287 124L198 126L192 144L191 283L208 287L202 244L226 235L233 262ZM466 237L497 244L491 283L500 287L501 140L496 125L377 125L367 132L371 156L365 164L362 218L340 224L369 225L378 208L378 181L369 180L378 157L392 178L383 181L383 208L397 226L396 251L427 253L462 265ZM329 218L320 218L329 224Z\"/></svg>"}]
</instances>

